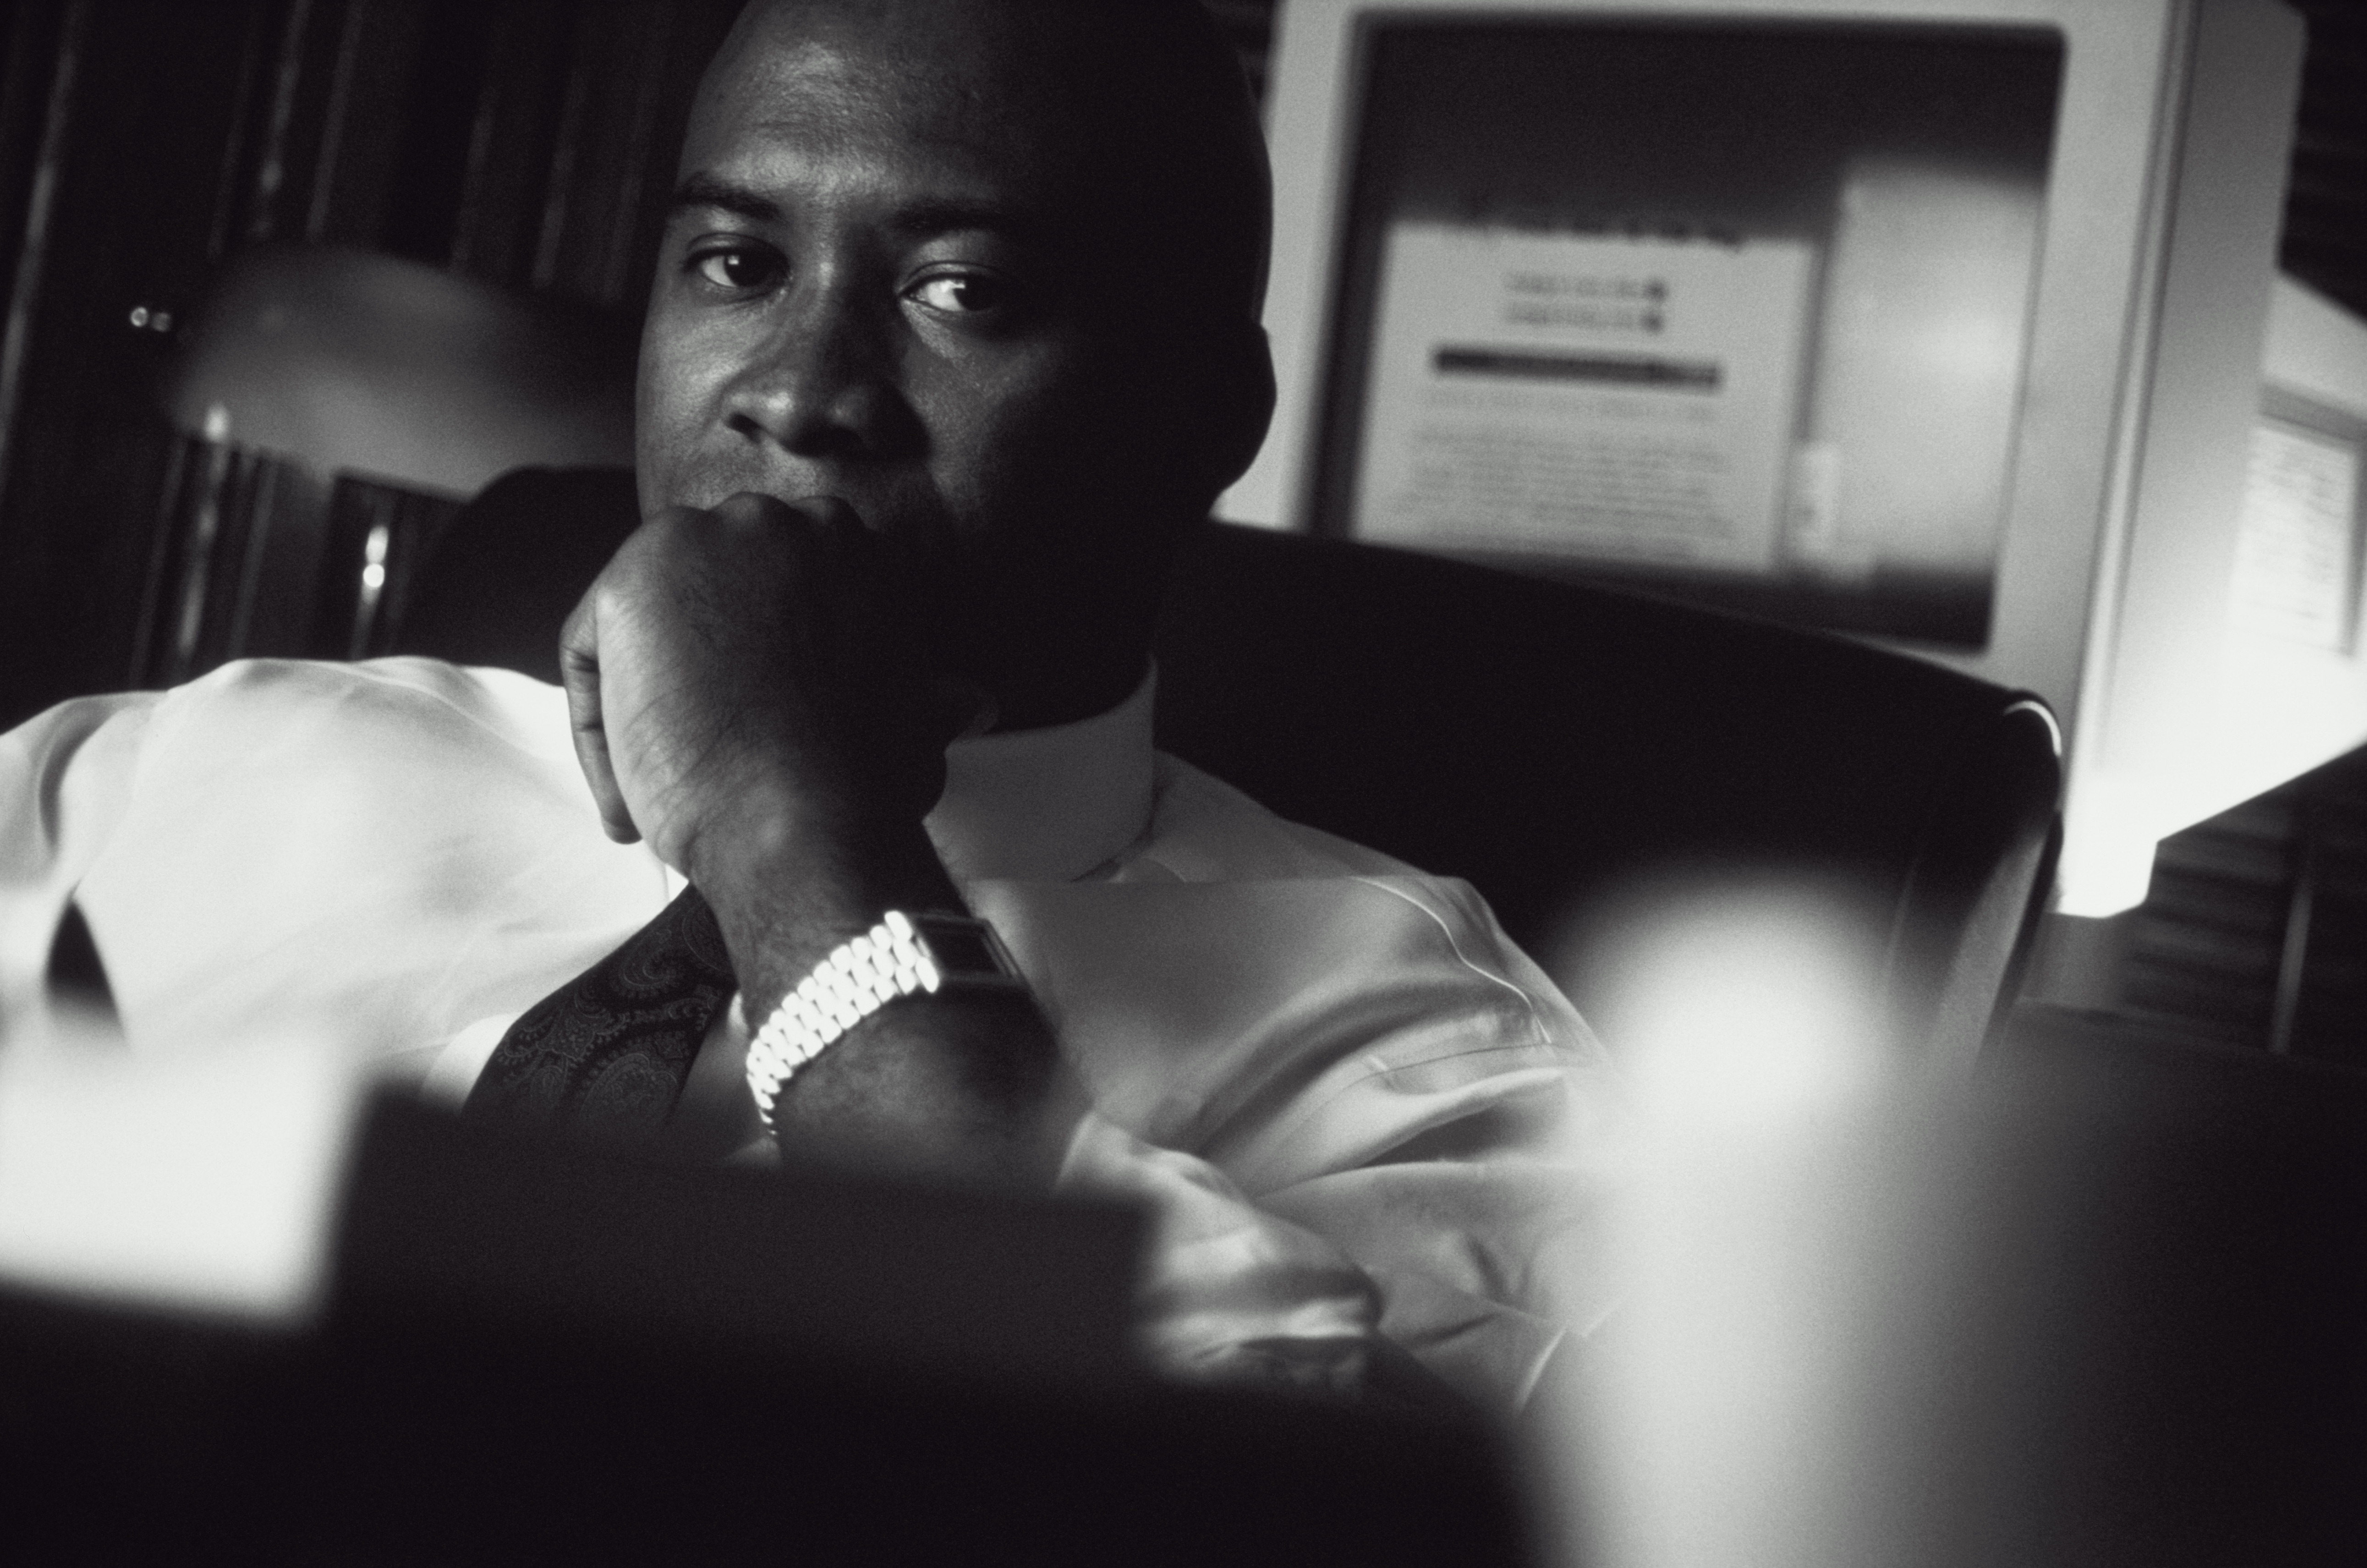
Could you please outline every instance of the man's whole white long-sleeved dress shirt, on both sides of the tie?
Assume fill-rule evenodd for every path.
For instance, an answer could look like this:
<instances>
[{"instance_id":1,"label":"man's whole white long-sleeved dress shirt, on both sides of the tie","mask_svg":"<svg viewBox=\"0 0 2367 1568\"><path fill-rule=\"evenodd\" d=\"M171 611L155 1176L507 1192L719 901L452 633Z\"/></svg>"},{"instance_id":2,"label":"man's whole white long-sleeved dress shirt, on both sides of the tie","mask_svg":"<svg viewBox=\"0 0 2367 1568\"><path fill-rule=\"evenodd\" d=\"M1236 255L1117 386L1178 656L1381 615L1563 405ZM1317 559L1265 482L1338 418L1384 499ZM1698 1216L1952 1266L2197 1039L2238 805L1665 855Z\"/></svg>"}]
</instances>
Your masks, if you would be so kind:
<instances>
[{"instance_id":1,"label":"man's whole white long-sleeved dress shirt, on both sides of the tie","mask_svg":"<svg viewBox=\"0 0 2367 1568\"><path fill-rule=\"evenodd\" d=\"M1389 1341L1517 1407L1607 1307L1600 1047L1468 883L1155 753L1150 703L956 741L928 817L1091 1094L1060 1180L1150 1206L1148 1350L1349 1383ZM135 1054L294 1033L457 1099L679 886L509 670L251 661L0 737L0 992L71 900ZM743 1049L710 1030L677 1111L715 1153Z\"/></svg>"}]
</instances>

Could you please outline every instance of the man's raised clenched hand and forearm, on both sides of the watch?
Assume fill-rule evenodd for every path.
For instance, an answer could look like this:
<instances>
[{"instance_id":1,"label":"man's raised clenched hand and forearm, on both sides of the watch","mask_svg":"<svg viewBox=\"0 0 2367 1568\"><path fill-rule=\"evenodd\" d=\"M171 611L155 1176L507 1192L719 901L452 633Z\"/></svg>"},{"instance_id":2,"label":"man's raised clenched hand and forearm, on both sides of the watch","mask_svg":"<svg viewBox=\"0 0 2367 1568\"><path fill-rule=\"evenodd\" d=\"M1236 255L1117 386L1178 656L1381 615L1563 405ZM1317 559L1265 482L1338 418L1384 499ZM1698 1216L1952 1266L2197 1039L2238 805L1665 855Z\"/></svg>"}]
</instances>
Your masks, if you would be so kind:
<instances>
[{"instance_id":1,"label":"man's raised clenched hand and forearm, on both sides of the watch","mask_svg":"<svg viewBox=\"0 0 2367 1568\"><path fill-rule=\"evenodd\" d=\"M985 696L933 682L895 550L840 502L641 523L561 635L608 836L715 907L750 1021L883 910L961 910L921 820ZM753 1111L753 1106L750 1106ZM1084 1111L1025 997L909 997L774 1106L783 1144L1041 1184Z\"/></svg>"}]
</instances>

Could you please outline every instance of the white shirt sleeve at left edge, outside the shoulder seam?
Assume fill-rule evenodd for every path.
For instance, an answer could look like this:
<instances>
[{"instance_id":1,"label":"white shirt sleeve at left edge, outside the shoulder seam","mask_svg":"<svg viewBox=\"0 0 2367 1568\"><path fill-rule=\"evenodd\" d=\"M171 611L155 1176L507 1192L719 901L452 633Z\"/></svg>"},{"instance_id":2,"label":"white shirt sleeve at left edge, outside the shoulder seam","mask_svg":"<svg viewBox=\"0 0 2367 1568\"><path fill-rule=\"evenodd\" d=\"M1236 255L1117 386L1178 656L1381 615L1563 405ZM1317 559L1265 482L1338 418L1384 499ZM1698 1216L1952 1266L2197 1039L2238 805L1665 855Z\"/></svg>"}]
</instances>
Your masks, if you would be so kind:
<instances>
[{"instance_id":1,"label":"white shirt sleeve at left edge, outside the shoulder seam","mask_svg":"<svg viewBox=\"0 0 2367 1568\"><path fill-rule=\"evenodd\" d=\"M0 1009L38 1002L73 888L123 820L156 701L78 696L0 734Z\"/></svg>"}]
</instances>

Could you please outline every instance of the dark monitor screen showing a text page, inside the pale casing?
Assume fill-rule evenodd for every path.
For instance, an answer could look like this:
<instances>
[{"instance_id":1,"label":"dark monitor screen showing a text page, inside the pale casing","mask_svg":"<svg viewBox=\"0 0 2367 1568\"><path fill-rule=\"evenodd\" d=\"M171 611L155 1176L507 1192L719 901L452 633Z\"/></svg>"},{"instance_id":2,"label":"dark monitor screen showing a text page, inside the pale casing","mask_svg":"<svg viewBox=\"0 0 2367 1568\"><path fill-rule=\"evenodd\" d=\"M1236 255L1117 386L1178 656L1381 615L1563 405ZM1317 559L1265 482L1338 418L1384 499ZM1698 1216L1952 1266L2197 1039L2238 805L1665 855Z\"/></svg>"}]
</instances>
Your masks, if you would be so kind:
<instances>
[{"instance_id":1,"label":"dark monitor screen showing a text page, inside the pale casing","mask_svg":"<svg viewBox=\"0 0 2367 1568\"><path fill-rule=\"evenodd\" d=\"M2062 64L1366 14L1314 528L1986 647Z\"/></svg>"}]
</instances>

